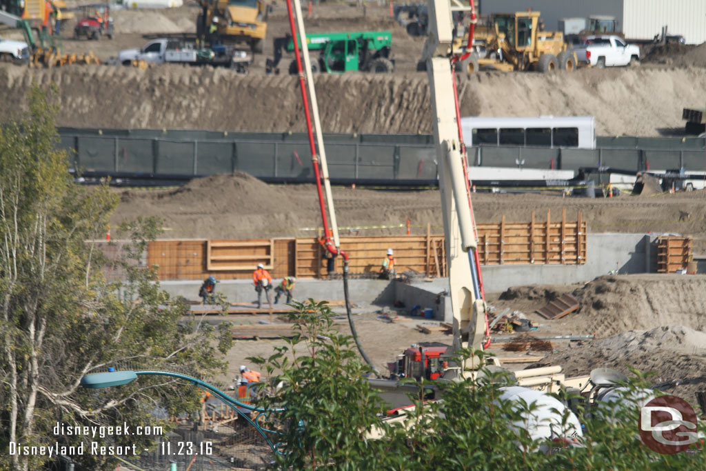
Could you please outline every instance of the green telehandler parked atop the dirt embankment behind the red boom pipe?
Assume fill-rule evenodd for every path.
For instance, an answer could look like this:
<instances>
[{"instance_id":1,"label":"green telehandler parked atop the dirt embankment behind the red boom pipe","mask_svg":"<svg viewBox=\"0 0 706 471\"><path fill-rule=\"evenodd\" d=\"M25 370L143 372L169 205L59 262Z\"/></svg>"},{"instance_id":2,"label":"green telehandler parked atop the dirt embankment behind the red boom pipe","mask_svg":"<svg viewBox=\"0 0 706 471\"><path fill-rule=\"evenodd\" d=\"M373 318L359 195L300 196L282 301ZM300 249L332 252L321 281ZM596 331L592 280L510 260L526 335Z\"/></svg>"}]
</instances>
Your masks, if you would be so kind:
<instances>
[{"instance_id":1,"label":"green telehandler parked atop the dirt embankment behind the red boom pipe","mask_svg":"<svg viewBox=\"0 0 706 471\"><path fill-rule=\"evenodd\" d=\"M390 31L315 32L306 35L312 54L311 71L344 73L364 71L386 73L395 70L392 58L393 34ZM267 60L268 73L279 73L277 66L282 60L282 51L294 52L291 35L275 38L275 59ZM297 62L289 64L289 73L297 73Z\"/></svg>"}]
</instances>

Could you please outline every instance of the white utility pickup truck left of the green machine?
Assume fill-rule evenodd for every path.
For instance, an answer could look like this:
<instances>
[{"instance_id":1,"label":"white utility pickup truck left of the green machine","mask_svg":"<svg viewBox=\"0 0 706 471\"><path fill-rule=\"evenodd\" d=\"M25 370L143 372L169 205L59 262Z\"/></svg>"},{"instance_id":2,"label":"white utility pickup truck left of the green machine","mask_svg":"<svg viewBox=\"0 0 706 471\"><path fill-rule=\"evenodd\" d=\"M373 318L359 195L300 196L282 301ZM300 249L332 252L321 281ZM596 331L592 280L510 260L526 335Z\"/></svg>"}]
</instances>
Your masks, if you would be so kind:
<instances>
[{"instance_id":1,"label":"white utility pickup truck left of the green machine","mask_svg":"<svg viewBox=\"0 0 706 471\"><path fill-rule=\"evenodd\" d=\"M199 48L196 47L196 42L181 37L162 37L148 42L141 49L122 50L118 60L124 66L131 65L132 61L145 61L152 64L225 66L246 72L252 56L232 47Z\"/></svg>"}]
</instances>

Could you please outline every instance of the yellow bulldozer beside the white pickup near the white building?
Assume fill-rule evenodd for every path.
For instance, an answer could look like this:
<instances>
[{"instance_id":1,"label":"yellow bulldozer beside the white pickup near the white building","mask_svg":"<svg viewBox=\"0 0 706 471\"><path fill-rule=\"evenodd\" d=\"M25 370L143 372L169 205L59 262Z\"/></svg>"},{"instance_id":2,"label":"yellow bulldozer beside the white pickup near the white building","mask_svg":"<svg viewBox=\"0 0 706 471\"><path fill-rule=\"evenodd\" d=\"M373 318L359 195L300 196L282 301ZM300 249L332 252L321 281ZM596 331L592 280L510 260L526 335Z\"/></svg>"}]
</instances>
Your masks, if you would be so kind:
<instances>
[{"instance_id":1,"label":"yellow bulldozer beside the white pickup near the white building","mask_svg":"<svg viewBox=\"0 0 706 471\"><path fill-rule=\"evenodd\" d=\"M464 38L467 42L467 36ZM465 48L463 40L454 52ZM458 64L460 71L473 73L489 66L500 71L573 71L576 55L566 49L558 31L544 31L539 11L496 13L474 31L473 54Z\"/></svg>"}]
</instances>

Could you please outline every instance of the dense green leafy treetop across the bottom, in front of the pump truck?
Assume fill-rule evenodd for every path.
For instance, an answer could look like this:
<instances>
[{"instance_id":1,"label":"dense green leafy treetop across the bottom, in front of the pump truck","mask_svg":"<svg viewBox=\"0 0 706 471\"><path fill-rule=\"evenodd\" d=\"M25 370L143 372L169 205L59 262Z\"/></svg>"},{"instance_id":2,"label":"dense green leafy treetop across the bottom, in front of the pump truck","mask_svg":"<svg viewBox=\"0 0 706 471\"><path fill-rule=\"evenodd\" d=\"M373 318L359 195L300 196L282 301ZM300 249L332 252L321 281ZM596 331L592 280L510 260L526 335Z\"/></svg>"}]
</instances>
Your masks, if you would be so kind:
<instances>
[{"instance_id":1,"label":"dense green leafy treetop across the bottom, in front of the pump truck","mask_svg":"<svg viewBox=\"0 0 706 471\"><path fill-rule=\"evenodd\" d=\"M646 376L623 385L623 400L614 407L580 407L583 438L533 441L525 423L534 403L501 398L511 379L484 369L483 376L458 381L403 380L417 384L409 395L414 405L399 422L383 422L385 405L364 378L370 372L357 357L352 339L333 330L325 303L294 304L290 315L297 335L268 359L251 358L279 384L258 405L282 407L272 414L270 429L282 430L282 469L385 470L604 470L693 469L706 467L698 446L676 455L650 451L638 438L640 398ZM461 358L484 355L461 350ZM510 383L508 383L510 381ZM440 401L425 401L436 386ZM266 387L266 386L265 386ZM566 400L563 395L556 396ZM577 399L574 397L573 399ZM568 409L558 427L568 427ZM699 431L703 436L703 424ZM382 438L373 439L373 436ZM577 446L578 445L578 446Z\"/></svg>"}]
</instances>

